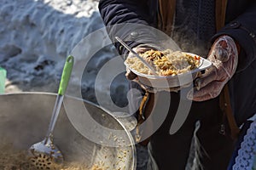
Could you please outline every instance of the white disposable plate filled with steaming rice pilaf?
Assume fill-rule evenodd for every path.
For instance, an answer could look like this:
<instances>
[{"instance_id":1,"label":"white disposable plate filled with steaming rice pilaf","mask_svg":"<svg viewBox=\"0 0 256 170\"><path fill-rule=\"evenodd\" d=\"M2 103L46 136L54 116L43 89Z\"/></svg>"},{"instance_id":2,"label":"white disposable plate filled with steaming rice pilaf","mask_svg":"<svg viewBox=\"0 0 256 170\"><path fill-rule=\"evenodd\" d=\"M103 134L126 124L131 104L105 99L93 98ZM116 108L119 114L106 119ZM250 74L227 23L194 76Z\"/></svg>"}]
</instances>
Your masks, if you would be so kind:
<instances>
[{"instance_id":1,"label":"white disposable plate filled with steaming rice pilaf","mask_svg":"<svg viewBox=\"0 0 256 170\"><path fill-rule=\"evenodd\" d=\"M139 54L156 71L154 75L137 57L125 59L125 65L137 75L137 80L154 88L176 88L193 82L212 62L197 54L182 51L148 50Z\"/></svg>"}]
</instances>

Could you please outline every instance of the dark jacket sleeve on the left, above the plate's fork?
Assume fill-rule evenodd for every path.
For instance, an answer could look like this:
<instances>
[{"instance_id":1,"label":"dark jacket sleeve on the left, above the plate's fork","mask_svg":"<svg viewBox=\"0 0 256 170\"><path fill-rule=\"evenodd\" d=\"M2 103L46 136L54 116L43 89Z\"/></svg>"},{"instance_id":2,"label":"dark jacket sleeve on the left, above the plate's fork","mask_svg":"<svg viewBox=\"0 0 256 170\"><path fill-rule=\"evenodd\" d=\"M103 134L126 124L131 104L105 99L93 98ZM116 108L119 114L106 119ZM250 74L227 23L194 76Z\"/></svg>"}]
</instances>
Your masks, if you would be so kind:
<instances>
[{"instance_id":1,"label":"dark jacket sleeve on the left, above the plate's fork","mask_svg":"<svg viewBox=\"0 0 256 170\"><path fill-rule=\"evenodd\" d=\"M101 0L98 8L108 35L120 54L127 51L116 42L116 36L131 48L141 43L154 42L154 33L150 31L154 18L150 17L152 13L149 12L147 0Z\"/></svg>"}]
</instances>

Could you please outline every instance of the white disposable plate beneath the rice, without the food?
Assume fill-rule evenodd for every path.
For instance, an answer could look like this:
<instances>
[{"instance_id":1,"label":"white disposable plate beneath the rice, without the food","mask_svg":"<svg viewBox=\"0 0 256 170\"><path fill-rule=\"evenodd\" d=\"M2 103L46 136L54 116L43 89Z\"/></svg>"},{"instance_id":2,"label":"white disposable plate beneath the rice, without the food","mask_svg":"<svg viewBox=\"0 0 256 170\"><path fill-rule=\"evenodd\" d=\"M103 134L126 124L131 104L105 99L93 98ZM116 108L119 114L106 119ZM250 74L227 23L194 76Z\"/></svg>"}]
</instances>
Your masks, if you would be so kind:
<instances>
[{"instance_id":1,"label":"white disposable plate beneath the rice, without the food","mask_svg":"<svg viewBox=\"0 0 256 170\"><path fill-rule=\"evenodd\" d=\"M186 54L200 57L199 55L196 55L196 54L191 54L191 53L186 53ZM126 66L129 67L129 65L126 65ZM175 76L146 75L138 71L135 71L131 68L129 69L135 74L137 74L139 82L141 82L144 85L154 87L154 88L176 88L176 87L181 87L186 84L189 84L189 82L193 82L193 80L195 79L198 73L206 70L210 66L212 66L211 61L200 57L200 65L196 69L186 73L178 74Z\"/></svg>"}]
</instances>

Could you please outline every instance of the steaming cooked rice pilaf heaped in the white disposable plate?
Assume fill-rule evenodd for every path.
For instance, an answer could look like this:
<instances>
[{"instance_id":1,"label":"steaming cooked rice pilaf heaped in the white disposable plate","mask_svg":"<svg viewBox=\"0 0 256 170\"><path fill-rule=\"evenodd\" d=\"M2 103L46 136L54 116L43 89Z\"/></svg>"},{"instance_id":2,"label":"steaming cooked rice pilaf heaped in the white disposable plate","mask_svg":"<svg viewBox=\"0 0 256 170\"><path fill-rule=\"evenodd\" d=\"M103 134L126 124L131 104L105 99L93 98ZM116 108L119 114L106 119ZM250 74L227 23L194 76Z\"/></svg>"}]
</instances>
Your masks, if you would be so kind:
<instances>
[{"instance_id":1,"label":"steaming cooked rice pilaf heaped in the white disposable plate","mask_svg":"<svg viewBox=\"0 0 256 170\"><path fill-rule=\"evenodd\" d=\"M172 52L170 49L165 51L155 51L151 49L139 55L142 56L149 65L152 65L160 76L174 76L189 72L200 65L200 58L196 55L190 55L181 51ZM125 63L135 71L152 75L147 65L144 65L137 57L127 58Z\"/></svg>"}]
</instances>

